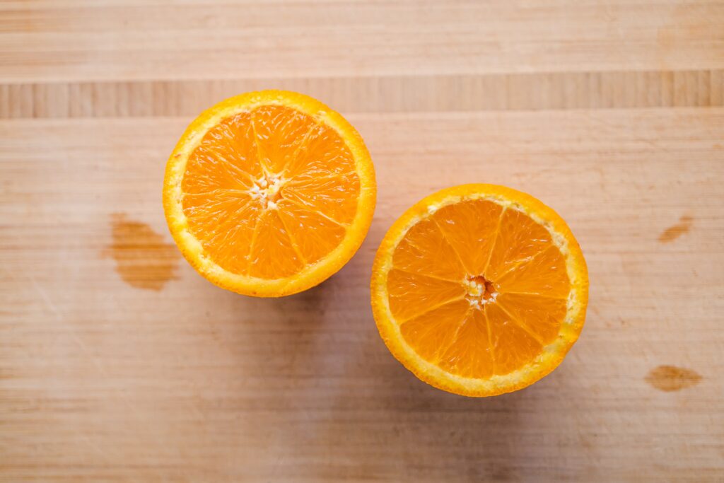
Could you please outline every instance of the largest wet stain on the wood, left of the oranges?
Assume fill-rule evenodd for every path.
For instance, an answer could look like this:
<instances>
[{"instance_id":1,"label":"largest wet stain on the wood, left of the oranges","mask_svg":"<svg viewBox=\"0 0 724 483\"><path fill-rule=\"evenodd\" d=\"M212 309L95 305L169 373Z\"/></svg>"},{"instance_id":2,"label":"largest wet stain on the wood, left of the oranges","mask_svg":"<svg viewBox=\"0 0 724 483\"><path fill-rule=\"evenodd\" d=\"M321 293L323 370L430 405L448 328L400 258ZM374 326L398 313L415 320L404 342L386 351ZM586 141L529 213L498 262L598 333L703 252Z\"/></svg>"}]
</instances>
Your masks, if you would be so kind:
<instances>
[{"instance_id":1,"label":"largest wet stain on the wood, left of the oranges","mask_svg":"<svg viewBox=\"0 0 724 483\"><path fill-rule=\"evenodd\" d=\"M111 215L113 243L104 255L116 261L116 271L128 285L146 290L161 290L175 272L180 258L172 243L146 223L128 219L126 214Z\"/></svg>"}]
</instances>

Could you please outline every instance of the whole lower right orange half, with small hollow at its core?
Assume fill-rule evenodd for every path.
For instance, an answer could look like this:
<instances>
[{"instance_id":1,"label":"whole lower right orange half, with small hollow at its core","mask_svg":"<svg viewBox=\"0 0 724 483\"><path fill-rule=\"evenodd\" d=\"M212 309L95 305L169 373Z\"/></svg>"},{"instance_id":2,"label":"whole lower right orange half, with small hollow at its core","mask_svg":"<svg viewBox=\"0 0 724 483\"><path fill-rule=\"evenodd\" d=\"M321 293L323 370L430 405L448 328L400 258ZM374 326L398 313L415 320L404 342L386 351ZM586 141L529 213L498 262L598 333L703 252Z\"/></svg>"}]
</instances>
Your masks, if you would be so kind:
<instances>
[{"instance_id":1,"label":"whole lower right orange half, with small hollow at its core","mask_svg":"<svg viewBox=\"0 0 724 483\"><path fill-rule=\"evenodd\" d=\"M581 248L555 211L495 185L434 193L377 251L372 309L392 354L468 396L521 389L578 338L588 301Z\"/></svg>"}]
</instances>

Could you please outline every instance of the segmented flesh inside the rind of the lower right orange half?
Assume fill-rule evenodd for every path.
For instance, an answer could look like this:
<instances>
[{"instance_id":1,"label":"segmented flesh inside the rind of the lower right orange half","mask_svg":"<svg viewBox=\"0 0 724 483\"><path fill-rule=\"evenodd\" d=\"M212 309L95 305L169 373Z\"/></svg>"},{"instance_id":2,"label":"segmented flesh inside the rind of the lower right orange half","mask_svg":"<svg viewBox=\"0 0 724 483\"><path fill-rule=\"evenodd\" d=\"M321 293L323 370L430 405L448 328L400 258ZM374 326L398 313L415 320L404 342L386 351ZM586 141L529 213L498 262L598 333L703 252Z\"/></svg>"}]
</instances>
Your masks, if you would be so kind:
<instances>
[{"instance_id":1,"label":"segmented flesh inside the rind of the lower right orange half","mask_svg":"<svg viewBox=\"0 0 724 483\"><path fill-rule=\"evenodd\" d=\"M406 343L451 374L531 362L557 337L571 288L550 232L493 201L444 206L408 230L387 277Z\"/></svg>"}]
</instances>

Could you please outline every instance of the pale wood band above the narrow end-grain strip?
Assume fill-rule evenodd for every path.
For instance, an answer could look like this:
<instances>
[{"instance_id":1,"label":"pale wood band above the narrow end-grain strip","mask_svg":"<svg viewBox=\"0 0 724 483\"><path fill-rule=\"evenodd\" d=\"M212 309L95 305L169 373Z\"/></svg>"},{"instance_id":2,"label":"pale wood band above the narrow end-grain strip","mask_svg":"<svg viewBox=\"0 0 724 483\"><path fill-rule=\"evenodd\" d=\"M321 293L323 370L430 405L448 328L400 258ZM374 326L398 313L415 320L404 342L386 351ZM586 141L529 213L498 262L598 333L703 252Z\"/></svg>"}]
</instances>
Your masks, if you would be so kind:
<instances>
[{"instance_id":1,"label":"pale wood band above the narrow end-grain strip","mask_svg":"<svg viewBox=\"0 0 724 483\"><path fill-rule=\"evenodd\" d=\"M26 3L3 5L6 79L724 67L724 5L711 1Z\"/></svg>"}]
</instances>

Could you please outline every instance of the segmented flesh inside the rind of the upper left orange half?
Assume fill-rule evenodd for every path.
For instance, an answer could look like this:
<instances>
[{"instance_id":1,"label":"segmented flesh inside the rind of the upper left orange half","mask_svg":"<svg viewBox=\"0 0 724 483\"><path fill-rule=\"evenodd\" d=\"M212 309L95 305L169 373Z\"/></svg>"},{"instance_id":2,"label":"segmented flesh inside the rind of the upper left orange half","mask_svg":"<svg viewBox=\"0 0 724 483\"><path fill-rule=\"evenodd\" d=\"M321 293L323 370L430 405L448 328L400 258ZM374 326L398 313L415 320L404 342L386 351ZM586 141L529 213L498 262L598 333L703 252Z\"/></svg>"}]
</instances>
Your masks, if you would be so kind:
<instances>
[{"instance_id":1,"label":"segmented flesh inside the rind of the upper left orange half","mask_svg":"<svg viewBox=\"0 0 724 483\"><path fill-rule=\"evenodd\" d=\"M181 185L190 231L228 272L297 274L334 250L360 193L332 128L285 106L224 119L189 156Z\"/></svg>"}]
</instances>

